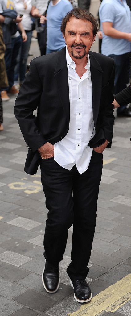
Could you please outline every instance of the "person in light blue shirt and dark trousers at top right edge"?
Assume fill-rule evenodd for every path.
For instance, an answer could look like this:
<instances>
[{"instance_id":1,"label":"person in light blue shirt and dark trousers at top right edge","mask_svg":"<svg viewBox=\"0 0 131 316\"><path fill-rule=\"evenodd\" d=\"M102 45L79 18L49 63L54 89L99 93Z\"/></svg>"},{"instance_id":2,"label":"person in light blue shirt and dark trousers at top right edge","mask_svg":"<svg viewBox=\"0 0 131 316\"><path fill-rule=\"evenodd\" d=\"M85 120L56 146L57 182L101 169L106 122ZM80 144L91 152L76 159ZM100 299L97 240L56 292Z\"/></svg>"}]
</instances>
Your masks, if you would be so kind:
<instances>
[{"instance_id":1,"label":"person in light blue shirt and dark trousers at top right edge","mask_svg":"<svg viewBox=\"0 0 131 316\"><path fill-rule=\"evenodd\" d=\"M115 60L114 93L129 82L131 60L131 13L126 0L103 0L99 7L103 33L101 52ZM117 116L131 116L127 105L117 109Z\"/></svg>"}]
</instances>

